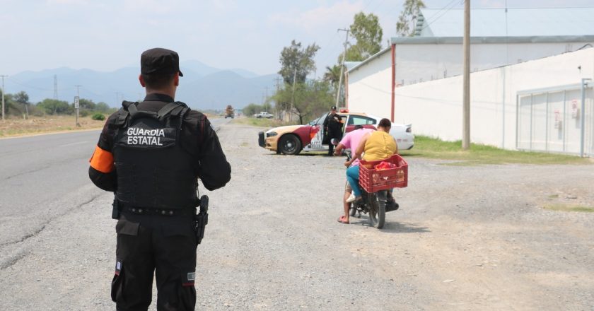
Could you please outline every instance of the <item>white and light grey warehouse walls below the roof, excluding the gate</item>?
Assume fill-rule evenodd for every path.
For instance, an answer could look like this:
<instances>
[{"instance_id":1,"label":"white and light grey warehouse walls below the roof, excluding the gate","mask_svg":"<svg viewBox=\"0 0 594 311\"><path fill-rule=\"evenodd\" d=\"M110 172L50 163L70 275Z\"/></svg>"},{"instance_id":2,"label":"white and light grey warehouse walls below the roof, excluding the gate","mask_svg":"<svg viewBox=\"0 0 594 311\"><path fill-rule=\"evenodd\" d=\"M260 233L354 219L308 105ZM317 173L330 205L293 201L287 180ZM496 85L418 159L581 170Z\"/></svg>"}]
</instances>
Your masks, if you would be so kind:
<instances>
[{"instance_id":1,"label":"white and light grey warehouse walls below the roof, excluding the gate","mask_svg":"<svg viewBox=\"0 0 594 311\"><path fill-rule=\"evenodd\" d=\"M475 46L471 68L495 66L505 61L507 50L513 57L537 57L564 51L566 44L517 44ZM425 73L429 81L404 84L395 88L394 122L413 124L413 132L454 141L462 137L462 76L439 78L431 81L431 73L437 75L436 64L448 64L448 68L461 73L462 54L457 45L432 45L418 49L420 45L397 47L396 76L398 78L416 73ZM417 49L412 49L417 47ZM575 47L575 45L573 45ZM417 51L417 52L415 52ZM493 57L488 57L492 54ZM499 56L497 56L499 55ZM415 61L414 59L417 59ZM489 63L489 61L491 61ZM508 149L516 149L516 95L523 90L554 88L581 82L581 78L594 78L594 49L563 53L519 64L475 71L471 75L471 139ZM378 117L391 114L391 53L349 71L349 98L347 106L354 112L367 112ZM578 69L581 68L581 69ZM448 69L449 72L451 70ZM442 73L443 75L443 73ZM449 76L449 74L448 74ZM594 84L594 83L592 83ZM575 91L567 93L576 100ZM559 96L555 94L554 96ZM577 98L581 100L581 98ZM588 99L591 101L591 99ZM593 117L590 117L590 119ZM594 127L590 125L590 127ZM592 134L594 135L594 133ZM520 146L523 148L523 146ZM575 148L573 148L575 149Z\"/></svg>"}]
</instances>

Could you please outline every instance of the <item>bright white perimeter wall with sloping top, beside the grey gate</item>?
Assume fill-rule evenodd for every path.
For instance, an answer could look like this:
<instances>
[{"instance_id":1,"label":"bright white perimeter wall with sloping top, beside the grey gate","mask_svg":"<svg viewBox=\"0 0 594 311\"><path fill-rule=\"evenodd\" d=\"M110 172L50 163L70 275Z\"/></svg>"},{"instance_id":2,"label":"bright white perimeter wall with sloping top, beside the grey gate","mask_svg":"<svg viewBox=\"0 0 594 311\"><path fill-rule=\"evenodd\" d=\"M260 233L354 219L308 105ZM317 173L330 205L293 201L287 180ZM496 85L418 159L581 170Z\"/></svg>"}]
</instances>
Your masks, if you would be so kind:
<instances>
[{"instance_id":1,"label":"bright white perimeter wall with sloping top, beside the grey gate","mask_svg":"<svg viewBox=\"0 0 594 311\"><path fill-rule=\"evenodd\" d=\"M579 69L578 69L579 68ZM471 74L471 140L516 149L516 96L525 90L560 88L594 77L594 49L561 54ZM594 84L594 83L593 83ZM569 93L575 100L576 93ZM579 94L579 93L577 93ZM591 94L591 92L589 93ZM577 98L577 100L581 100ZM588 105L593 106L592 98ZM385 115L390 110L375 113ZM412 123L415 134L448 141L462 138L462 76L427 81L395 90L395 122ZM587 120L592 120L590 110ZM590 121L591 123L591 121ZM588 137L594 135L588 124ZM593 132L593 133L590 133Z\"/></svg>"}]
</instances>

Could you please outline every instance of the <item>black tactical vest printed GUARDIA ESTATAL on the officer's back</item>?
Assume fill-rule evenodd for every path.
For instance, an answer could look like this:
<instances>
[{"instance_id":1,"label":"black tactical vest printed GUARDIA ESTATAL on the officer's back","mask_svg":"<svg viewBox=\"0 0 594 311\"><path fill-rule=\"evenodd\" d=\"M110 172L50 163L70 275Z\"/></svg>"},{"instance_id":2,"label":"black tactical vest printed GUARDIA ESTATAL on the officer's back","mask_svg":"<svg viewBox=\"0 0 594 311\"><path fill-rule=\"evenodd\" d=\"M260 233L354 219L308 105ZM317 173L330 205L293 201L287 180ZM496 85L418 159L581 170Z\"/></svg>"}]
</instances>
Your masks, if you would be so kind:
<instances>
[{"instance_id":1,"label":"black tactical vest printed GUARDIA ESTATAL on the officer's back","mask_svg":"<svg viewBox=\"0 0 594 311\"><path fill-rule=\"evenodd\" d=\"M137 104L123 102L114 124L117 199L144 208L195 206L194 158L180 142L183 117L190 108L170 102L150 112L138 110Z\"/></svg>"}]
</instances>

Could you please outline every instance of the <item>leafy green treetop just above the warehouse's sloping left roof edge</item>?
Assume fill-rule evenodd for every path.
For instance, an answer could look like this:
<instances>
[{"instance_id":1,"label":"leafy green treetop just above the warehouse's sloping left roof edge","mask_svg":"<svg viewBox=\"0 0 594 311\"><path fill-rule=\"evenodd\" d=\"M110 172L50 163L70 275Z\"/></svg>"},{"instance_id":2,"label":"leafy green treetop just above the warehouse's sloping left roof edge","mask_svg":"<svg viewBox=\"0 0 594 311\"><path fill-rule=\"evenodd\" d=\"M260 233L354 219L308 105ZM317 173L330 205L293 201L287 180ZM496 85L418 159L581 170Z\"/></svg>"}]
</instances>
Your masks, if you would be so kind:
<instances>
[{"instance_id":1,"label":"leafy green treetop just above the warehouse's sloping left roof edge","mask_svg":"<svg viewBox=\"0 0 594 311\"><path fill-rule=\"evenodd\" d=\"M347 49L347 57L345 57L347 61L363 61L380 52L383 31L378 16L373 13L368 15L363 12L356 13L350 29L356 44ZM339 59L341 57L342 54L339 55Z\"/></svg>"}]
</instances>

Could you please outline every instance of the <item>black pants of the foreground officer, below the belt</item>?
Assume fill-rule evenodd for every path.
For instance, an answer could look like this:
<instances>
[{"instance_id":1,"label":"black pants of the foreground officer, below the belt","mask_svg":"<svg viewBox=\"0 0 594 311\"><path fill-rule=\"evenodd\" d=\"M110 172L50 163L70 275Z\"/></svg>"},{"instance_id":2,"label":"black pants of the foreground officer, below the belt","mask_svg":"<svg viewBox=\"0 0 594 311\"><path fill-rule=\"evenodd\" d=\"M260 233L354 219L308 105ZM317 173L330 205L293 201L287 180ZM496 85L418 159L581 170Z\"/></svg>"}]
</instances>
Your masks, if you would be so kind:
<instances>
[{"instance_id":1,"label":"black pants of the foreground officer, below the belt","mask_svg":"<svg viewBox=\"0 0 594 311\"><path fill-rule=\"evenodd\" d=\"M157 310L194 310L197 240L191 216L126 213L116 225L116 269L111 296L117 310L147 310L153 271Z\"/></svg>"}]
</instances>

